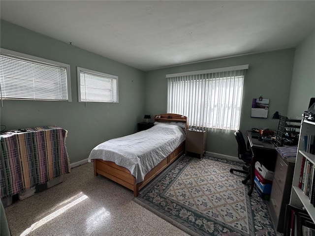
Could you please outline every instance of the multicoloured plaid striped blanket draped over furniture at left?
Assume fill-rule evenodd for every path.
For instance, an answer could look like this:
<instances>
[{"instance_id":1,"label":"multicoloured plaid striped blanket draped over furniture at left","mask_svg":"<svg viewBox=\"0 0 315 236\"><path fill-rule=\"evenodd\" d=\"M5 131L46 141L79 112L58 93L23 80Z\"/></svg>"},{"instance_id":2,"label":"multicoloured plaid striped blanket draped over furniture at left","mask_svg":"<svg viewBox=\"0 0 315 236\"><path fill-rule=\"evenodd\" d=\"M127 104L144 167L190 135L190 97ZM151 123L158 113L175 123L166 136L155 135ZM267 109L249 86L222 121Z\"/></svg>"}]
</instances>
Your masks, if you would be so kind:
<instances>
[{"instance_id":1,"label":"multicoloured plaid striped blanket draped over furniture at left","mask_svg":"<svg viewBox=\"0 0 315 236\"><path fill-rule=\"evenodd\" d=\"M66 130L55 126L27 130L0 135L1 198L70 172Z\"/></svg>"}]
</instances>

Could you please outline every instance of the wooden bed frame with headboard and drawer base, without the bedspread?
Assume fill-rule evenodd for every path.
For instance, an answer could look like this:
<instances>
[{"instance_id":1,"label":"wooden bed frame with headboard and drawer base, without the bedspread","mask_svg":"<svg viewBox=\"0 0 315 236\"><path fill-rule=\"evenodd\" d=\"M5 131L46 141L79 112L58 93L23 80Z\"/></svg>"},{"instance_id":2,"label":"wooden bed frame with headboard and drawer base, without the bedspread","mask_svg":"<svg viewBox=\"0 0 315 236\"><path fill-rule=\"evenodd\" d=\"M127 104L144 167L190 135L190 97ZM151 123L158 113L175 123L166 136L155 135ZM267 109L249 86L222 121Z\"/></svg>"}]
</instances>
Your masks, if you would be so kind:
<instances>
[{"instance_id":1,"label":"wooden bed frame with headboard and drawer base, without the bedspread","mask_svg":"<svg viewBox=\"0 0 315 236\"><path fill-rule=\"evenodd\" d=\"M188 129L187 117L178 114L161 114L155 117L155 121L159 122L185 122ZM136 178L131 175L130 171L125 167L118 166L112 161L104 161L101 159L94 159L94 175L98 174L107 177L126 188L133 191L134 197L139 195L139 190L149 183L154 177L158 176L166 167L185 152L185 141L181 143L171 154L165 157L156 167L154 167L140 183L136 183Z\"/></svg>"}]
</instances>

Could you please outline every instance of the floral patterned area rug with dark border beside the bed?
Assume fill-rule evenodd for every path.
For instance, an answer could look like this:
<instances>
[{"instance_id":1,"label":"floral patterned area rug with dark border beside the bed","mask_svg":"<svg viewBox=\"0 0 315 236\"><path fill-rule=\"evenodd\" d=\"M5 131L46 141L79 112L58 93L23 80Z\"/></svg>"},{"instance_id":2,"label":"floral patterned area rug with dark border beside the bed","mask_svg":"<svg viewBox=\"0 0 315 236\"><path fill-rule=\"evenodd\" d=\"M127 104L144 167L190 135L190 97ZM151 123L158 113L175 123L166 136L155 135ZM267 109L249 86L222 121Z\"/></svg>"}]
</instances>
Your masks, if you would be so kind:
<instances>
[{"instance_id":1,"label":"floral patterned area rug with dark border beside the bed","mask_svg":"<svg viewBox=\"0 0 315 236\"><path fill-rule=\"evenodd\" d=\"M182 156L140 191L134 199L190 235L276 236L268 207L249 185L234 161Z\"/></svg>"}]
</instances>

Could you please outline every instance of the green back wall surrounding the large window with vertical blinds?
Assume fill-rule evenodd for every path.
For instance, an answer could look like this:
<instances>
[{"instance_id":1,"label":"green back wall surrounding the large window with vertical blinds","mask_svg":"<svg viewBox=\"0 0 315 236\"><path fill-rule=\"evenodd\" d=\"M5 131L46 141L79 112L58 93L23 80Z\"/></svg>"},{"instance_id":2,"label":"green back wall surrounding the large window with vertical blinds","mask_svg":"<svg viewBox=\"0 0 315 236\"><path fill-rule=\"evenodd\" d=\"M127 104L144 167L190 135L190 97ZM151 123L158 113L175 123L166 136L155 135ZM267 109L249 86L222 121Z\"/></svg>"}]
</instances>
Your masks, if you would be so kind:
<instances>
[{"instance_id":1,"label":"green back wall surrounding the large window with vertical blinds","mask_svg":"<svg viewBox=\"0 0 315 236\"><path fill-rule=\"evenodd\" d=\"M249 64L244 82L240 130L245 135L245 131L252 127L277 129L278 121L270 117L275 111L287 114L293 60L294 49L286 49L147 71L145 111L151 115L166 113L166 74ZM260 94L270 99L268 118L251 118L252 98L257 98ZM206 150L237 156L237 144L233 132L208 132Z\"/></svg>"}]
</instances>

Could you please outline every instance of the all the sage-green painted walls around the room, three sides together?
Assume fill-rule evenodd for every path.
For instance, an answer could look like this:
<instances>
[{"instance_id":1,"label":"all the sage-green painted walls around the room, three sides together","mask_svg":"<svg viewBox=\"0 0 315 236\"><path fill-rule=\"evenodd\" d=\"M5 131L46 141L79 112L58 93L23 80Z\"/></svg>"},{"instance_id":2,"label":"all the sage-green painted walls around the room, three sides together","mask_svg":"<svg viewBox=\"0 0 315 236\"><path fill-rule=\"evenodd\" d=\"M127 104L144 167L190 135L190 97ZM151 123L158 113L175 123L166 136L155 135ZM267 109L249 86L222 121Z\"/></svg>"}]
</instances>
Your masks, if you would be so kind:
<instances>
[{"instance_id":1,"label":"all the sage-green painted walls around the room, three sides together","mask_svg":"<svg viewBox=\"0 0 315 236\"><path fill-rule=\"evenodd\" d=\"M210 60L143 72L120 62L1 20L1 47L70 64L72 102L4 100L0 124L7 129L57 125L68 130L70 163L84 160L92 148L111 138L136 132L144 114L166 113L166 74L249 64L240 129L276 129L275 111L301 116L315 96L315 32L295 49ZM119 103L79 103L76 66L119 76ZM293 72L292 72L293 70ZM293 73L293 76L292 76ZM291 85L292 78L292 85ZM268 118L251 118L252 98L270 99ZM311 95L312 94L312 95ZM236 156L232 132L208 132L207 151Z\"/></svg>"}]
</instances>

